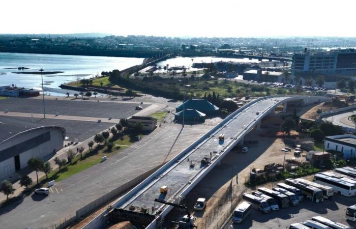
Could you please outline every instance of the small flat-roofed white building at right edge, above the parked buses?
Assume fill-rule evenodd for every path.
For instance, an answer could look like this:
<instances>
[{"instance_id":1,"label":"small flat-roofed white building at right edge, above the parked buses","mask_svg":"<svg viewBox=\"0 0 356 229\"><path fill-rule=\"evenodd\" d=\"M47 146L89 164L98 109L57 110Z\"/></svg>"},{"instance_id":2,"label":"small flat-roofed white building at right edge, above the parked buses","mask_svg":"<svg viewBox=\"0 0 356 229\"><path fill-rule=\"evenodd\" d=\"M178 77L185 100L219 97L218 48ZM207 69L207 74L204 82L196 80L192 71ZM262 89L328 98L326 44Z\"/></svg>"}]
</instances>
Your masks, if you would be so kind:
<instances>
[{"instance_id":1,"label":"small flat-roofed white building at right edge, above the parked buses","mask_svg":"<svg viewBox=\"0 0 356 229\"><path fill-rule=\"evenodd\" d=\"M344 159L356 157L356 136L353 134L342 134L325 137L324 149L342 152Z\"/></svg>"}]
</instances>

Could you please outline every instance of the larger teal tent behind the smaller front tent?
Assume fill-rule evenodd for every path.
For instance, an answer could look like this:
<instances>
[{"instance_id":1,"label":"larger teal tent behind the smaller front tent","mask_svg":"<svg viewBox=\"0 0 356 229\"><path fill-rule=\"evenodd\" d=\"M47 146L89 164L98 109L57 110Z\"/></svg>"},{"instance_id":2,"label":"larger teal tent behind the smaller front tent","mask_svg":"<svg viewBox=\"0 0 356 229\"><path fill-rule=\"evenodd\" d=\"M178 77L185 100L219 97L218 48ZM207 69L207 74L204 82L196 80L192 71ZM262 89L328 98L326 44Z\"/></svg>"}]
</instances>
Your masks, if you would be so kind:
<instances>
[{"instance_id":1,"label":"larger teal tent behind the smaller front tent","mask_svg":"<svg viewBox=\"0 0 356 229\"><path fill-rule=\"evenodd\" d=\"M207 116L214 116L219 114L219 107L206 99L189 99L175 108L175 112L178 113L183 109L197 110L204 113Z\"/></svg>"}]
</instances>

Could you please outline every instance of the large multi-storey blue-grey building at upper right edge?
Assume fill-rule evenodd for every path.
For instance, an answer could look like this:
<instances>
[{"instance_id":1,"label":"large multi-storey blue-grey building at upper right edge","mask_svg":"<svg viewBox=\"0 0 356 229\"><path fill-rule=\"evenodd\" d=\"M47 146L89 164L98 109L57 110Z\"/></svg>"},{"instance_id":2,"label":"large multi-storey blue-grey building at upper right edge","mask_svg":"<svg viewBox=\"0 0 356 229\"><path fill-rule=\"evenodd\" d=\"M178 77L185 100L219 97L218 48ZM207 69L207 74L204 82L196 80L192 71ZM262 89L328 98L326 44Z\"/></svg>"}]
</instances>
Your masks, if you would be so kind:
<instances>
[{"instance_id":1,"label":"large multi-storey blue-grey building at upper right edge","mask_svg":"<svg viewBox=\"0 0 356 229\"><path fill-rule=\"evenodd\" d=\"M329 51L294 53L292 72L345 73L356 71L356 50L354 48L331 49Z\"/></svg>"}]
</instances>

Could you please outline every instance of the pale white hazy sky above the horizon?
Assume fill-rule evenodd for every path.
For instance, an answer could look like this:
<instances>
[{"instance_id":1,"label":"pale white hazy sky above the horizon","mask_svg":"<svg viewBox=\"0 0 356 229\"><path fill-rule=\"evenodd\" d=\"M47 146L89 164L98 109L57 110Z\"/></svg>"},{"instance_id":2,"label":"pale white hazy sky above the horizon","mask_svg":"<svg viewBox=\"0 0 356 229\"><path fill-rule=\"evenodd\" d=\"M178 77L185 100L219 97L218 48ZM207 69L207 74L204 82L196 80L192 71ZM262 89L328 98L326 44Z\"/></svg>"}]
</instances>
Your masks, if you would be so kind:
<instances>
[{"instance_id":1,"label":"pale white hazy sky above the horizon","mask_svg":"<svg viewBox=\"0 0 356 229\"><path fill-rule=\"evenodd\" d=\"M354 0L1 0L0 33L356 37Z\"/></svg>"}]
</instances>

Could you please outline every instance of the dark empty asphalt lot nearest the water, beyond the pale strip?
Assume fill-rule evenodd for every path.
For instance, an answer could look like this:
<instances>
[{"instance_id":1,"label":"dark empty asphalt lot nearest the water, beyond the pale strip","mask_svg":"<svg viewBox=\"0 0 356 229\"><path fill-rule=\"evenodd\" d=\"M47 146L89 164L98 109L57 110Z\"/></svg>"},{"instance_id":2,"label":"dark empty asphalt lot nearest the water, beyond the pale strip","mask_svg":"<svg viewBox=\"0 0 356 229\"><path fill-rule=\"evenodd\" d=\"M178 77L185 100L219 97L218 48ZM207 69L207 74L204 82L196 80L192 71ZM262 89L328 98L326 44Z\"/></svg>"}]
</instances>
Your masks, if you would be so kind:
<instances>
[{"instance_id":1,"label":"dark empty asphalt lot nearest the water, beyond the pale strip","mask_svg":"<svg viewBox=\"0 0 356 229\"><path fill-rule=\"evenodd\" d=\"M95 118L113 119L127 118L134 115L137 110L137 103L118 103L118 102L96 102L91 100L64 100L46 99L46 113L51 115L81 116ZM141 104L142 108L150 104ZM0 100L0 111L24 112L24 113L43 113L43 102L40 99L8 98Z\"/></svg>"}]
</instances>

